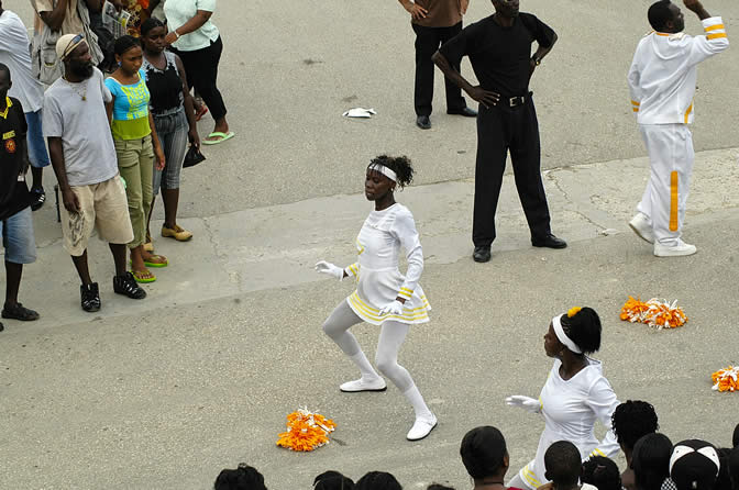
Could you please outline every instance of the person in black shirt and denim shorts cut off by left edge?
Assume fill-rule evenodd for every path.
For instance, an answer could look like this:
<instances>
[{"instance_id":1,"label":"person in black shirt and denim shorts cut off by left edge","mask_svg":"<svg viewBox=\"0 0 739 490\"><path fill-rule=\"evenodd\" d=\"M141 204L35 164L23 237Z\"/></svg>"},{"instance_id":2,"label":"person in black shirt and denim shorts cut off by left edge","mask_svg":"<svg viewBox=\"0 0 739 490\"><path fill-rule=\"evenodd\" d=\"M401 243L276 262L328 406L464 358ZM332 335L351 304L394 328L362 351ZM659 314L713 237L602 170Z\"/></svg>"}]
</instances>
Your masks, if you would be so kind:
<instances>
[{"instance_id":1,"label":"person in black shirt and denim shorts cut off by left edge","mask_svg":"<svg viewBox=\"0 0 739 490\"><path fill-rule=\"evenodd\" d=\"M8 97L10 86L10 69L0 63L0 235L7 272L2 318L30 321L37 320L38 313L18 302L18 290L23 264L36 260L30 208L34 198L25 183L29 169L25 114L21 102Z\"/></svg>"}]
</instances>

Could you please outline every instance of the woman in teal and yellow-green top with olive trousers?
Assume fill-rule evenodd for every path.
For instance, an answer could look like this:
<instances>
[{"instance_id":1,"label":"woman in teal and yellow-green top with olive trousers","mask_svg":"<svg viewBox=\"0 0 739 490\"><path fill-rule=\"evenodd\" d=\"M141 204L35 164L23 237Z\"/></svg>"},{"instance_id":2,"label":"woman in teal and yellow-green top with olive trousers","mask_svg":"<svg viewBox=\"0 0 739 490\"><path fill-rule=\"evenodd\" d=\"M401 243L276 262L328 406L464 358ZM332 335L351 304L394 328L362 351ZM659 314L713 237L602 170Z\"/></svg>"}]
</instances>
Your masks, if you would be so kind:
<instances>
[{"instance_id":1,"label":"woman in teal and yellow-green top with olive trousers","mask_svg":"<svg viewBox=\"0 0 739 490\"><path fill-rule=\"evenodd\" d=\"M165 165L164 153L156 136L154 121L148 112L150 93L145 75L141 71L143 51L139 41L122 36L115 41L115 60L119 68L106 80L113 94L108 103L110 127L115 143L118 168L125 180L129 215L133 226L131 268L139 282L152 282L156 277L147 267L166 267L167 259L144 250L146 221L152 210L152 174Z\"/></svg>"}]
</instances>

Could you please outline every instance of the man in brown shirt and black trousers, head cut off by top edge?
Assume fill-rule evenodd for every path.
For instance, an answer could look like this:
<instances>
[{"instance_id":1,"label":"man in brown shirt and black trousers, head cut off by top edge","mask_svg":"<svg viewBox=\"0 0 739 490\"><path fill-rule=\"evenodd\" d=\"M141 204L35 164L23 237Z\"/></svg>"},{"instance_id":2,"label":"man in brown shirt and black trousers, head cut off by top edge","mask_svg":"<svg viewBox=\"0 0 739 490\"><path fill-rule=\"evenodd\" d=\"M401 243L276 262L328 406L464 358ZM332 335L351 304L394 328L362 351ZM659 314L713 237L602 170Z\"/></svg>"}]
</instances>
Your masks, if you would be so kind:
<instances>
[{"instance_id":1,"label":"man in brown shirt and black trousers, head cut off by top edge","mask_svg":"<svg viewBox=\"0 0 739 490\"><path fill-rule=\"evenodd\" d=\"M416 33L416 87L413 105L416 125L421 130L431 129L431 100L433 99L433 62L431 56L446 41L462 32L462 15L467 11L470 0L398 0L410 14L410 24ZM454 65L460 70L460 64ZM467 108L462 90L449 78L444 78L446 89L446 113L467 118L477 111Z\"/></svg>"}]
</instances>

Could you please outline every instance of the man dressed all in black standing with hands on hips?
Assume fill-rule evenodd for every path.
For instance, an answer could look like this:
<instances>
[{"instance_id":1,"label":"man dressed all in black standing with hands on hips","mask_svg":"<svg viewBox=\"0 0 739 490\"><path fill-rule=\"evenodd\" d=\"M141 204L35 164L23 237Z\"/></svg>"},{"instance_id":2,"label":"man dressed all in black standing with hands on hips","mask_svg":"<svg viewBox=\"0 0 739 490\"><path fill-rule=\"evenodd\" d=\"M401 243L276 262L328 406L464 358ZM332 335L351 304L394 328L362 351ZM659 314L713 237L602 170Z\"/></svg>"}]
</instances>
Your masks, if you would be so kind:
<instances>
[{"instance_id":1,"label":"man dressed all in black standing with hands on hips","mask_svg":"<svg viewBox=\"0 0 739 490\"><path fill-rule=\"evenodd\" d=\"M433 55L444 76L479 102L472 241L475 261L490 259L506 156L510 151L516 188L536 247L564 248L552 235L541 181L539 122L529 80L556 42L552 29L530 13L519 13L518 0L493 0L495 14L464 29ZM531 44L538 49L531 56ZM454 66L470 57L479 86L473 87Z\"/></svg>"}]
</instances>

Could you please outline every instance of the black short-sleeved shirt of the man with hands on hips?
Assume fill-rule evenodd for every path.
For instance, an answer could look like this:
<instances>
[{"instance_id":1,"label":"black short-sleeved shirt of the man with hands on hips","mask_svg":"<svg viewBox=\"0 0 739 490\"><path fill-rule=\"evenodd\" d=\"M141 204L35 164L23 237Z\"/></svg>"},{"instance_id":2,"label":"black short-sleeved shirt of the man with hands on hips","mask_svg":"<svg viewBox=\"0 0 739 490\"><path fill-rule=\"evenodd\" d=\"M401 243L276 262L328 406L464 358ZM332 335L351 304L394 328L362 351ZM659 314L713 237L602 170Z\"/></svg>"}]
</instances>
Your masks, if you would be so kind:
<instances>
[{"instance_id":1,"label":"black short-sleeved shirt of the man with hands on hips","mask_svg":"<svg viewBox=\"0 0 739 490\"><path fill-rule=\"evenodd\" d=\"M529 91L531 44L549 47L554 31L530 13L519 13L514 25L504 27L494 15L467 25L439 49L450 64L470 57L472 69L485 90L503 96Z\"/></svg>"}]
</instances>

